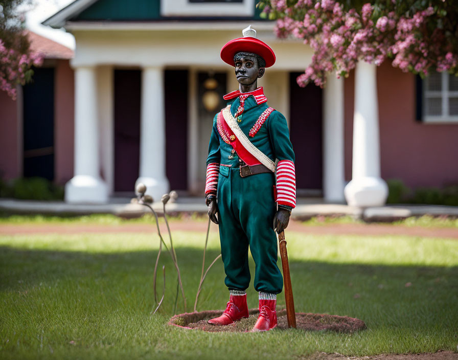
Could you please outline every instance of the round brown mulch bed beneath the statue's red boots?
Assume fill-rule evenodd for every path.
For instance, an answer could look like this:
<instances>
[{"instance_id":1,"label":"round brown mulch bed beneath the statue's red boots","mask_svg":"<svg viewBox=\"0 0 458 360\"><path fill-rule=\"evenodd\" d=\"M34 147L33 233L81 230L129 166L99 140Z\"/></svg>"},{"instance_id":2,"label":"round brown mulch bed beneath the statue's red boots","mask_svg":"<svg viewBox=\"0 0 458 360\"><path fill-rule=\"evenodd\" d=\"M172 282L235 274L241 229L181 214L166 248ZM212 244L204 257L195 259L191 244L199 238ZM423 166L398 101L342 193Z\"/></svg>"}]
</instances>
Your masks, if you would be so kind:
<instances>
[{"instance_id":1,"label":"round brown mulch bed beneath the statue's red boots","mask_svg":"<svg viewBox=\"0 0 458 360\"><path fill-rule=\"evenodd\" d=\"M175 315L169 321L169 325L178 326L185 329L198 329L203 331L218 332L246 332L253 329L258 319L259 310L250 309L249 318L236 321L234 324L218 326L209 324L207 321L220 316L222 310L209 310L200 312L191 312ZM288 323L286 320L286 310L277 311L278 326L274 330L286 330ZM349 318L346 316L312 314L296 312L296 325L298 329L320 331L330 330L336 332L354 332L365 329L362 320Z\"/></svg>"}]
</instances>

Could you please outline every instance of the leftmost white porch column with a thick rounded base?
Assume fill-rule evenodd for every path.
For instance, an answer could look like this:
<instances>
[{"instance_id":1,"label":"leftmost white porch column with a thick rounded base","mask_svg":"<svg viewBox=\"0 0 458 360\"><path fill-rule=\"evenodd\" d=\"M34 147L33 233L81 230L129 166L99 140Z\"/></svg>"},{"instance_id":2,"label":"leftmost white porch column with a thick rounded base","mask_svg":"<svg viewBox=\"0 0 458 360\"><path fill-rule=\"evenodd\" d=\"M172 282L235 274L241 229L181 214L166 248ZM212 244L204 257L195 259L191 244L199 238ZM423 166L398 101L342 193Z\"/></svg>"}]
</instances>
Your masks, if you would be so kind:
<instances>
[{"instance_id":1,"label":"leftmost white porch column with a thick rounded base","mask_svg":"<svg viewBox=\"0 0 458 360\"><path fill-rule=\"evenodd\" d=\"M84 66L75 69L75 168L65 184L65 201L106 202L107 186L99 172L96 70Z\"/></svg>"}]
</instances>

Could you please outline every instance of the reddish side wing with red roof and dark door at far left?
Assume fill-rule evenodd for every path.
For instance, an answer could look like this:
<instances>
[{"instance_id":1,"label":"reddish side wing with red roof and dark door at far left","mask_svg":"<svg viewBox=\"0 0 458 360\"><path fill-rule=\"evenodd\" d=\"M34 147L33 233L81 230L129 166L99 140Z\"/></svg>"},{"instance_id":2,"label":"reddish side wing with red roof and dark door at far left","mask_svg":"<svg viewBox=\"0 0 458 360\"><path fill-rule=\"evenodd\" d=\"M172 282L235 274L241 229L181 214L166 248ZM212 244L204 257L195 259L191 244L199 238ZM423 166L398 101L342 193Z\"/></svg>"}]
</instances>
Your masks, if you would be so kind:
<instances>
[{"instance_id":1,"label":"reddish side wing with red roof and dark door at far left","mask_svg":"<svg viewBox=\"0 0 458 360\"><path fill-rule=\"evenodd\" d=\"M44 57L32 82L12 100L0 91L0 176L40 176L65 184L73 176L73 51L28 32L31 51Z\"/></svg>"}]
</instances>

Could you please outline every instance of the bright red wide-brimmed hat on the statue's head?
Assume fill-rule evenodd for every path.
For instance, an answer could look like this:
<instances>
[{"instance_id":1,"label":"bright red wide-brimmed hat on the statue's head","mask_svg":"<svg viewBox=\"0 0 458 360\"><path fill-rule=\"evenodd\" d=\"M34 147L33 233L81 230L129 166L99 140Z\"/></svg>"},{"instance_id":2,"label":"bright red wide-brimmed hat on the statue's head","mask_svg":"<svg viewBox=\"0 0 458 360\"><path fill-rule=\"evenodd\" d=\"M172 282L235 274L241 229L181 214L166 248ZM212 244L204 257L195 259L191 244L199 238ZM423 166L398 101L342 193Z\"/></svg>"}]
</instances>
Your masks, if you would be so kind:
<instances>
[{"instance_id":1,"label":"bright red wide-brimmed hat on the statue's head","mask_svg":"<svg viewBox=\"0 0 458 360\"><path fill-rule=\"evenodd\" d=\"M261 56L266 62L266 68L275 63L273 50L256 37L246 36L227 42L221 49L221 59L234 66L234 55L240 52L253 53Z\"/></svg>"}]
</instances>

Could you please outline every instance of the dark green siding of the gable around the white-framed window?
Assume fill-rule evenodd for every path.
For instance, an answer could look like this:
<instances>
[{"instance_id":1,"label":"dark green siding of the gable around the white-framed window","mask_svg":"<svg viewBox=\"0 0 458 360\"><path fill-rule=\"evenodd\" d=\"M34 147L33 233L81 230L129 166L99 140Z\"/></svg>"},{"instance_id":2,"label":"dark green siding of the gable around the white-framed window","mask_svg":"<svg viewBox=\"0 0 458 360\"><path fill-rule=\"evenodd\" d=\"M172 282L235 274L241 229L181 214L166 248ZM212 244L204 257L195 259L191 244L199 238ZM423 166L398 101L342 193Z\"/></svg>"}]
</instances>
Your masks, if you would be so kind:
<instances>
[{"instance_id":1,"label":"dark green siding of the gable around the white-framed window","mask_svg":"<svg viewBox=\"0 0 458 360\"><path fill-rule=\"evenodd\" d=\"M170 0L173 1L173 0ZM256 3L256 2L255 2ZM254 20L261 19L260 10L255 8ZM186 18L186 17L181 17ZM246 19L246 17L243 17ZM89 6L79 15L69 19L72 21L97 21L97 20L113 20L113 21L142 21L142 20L167 20L180 19L179 17L161 17L161 0L99 0L95 4ZM208 17L209 21L215 19ZM234 17L227 17L234 19Z\"/></svg>"}]
</instances>

